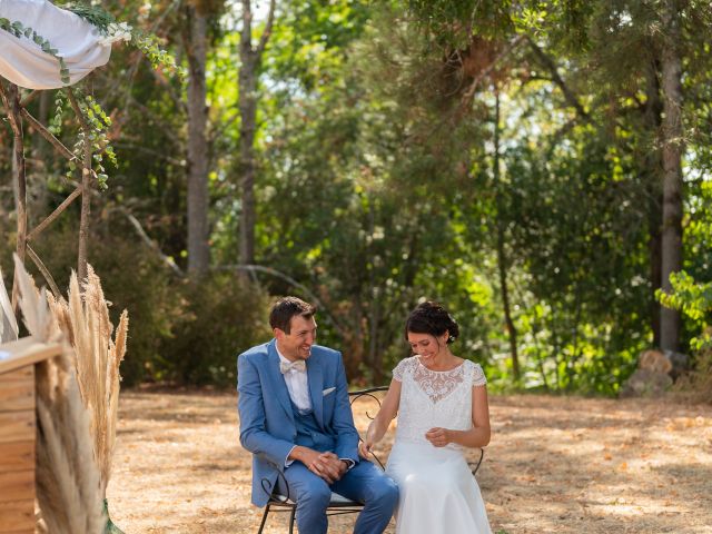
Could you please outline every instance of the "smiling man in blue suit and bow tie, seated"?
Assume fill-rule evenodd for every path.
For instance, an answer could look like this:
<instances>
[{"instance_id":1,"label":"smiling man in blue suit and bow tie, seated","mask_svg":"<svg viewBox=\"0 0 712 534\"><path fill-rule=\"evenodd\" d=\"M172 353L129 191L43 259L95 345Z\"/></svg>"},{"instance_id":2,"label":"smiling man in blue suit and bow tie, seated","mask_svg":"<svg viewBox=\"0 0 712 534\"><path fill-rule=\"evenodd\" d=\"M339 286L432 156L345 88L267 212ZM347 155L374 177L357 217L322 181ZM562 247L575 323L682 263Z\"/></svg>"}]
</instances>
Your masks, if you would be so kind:
<instances>
[{"instance_id":1,"label":"smiling man in blue suit and bow tie, seated","mask_svg":"<svg viewBox=\"0 0 712 534\"><path fill-rule=\"evenodd\" d=\"M315 345L315 312L296 297L280 299L269 314L275 338L237 360L240 443L254 455L253 503L265 506L275 484L286 494L287 481L299 532L322 534L335 492L365 505L355 534L378 534L388 525L398 490L359 459L342 355Z\"/></svg>"}]
</instances>

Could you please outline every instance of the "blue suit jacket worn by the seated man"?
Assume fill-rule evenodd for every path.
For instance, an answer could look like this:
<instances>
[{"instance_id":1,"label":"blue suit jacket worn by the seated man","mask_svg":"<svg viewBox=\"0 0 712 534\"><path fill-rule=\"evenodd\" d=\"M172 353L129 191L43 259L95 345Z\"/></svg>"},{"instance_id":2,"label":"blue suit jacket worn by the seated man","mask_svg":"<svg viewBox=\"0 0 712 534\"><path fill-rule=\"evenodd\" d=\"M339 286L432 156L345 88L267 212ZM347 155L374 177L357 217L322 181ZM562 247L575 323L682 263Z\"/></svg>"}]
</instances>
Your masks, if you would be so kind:
<instances>
[{"instance_id":1,"label":"blue suit jacket worn by the seated man","mask_svg":"<svg viewBox=\"0 0 712 534\"><path fill-rule=\"evenodd\" d=\"M237 358L240 443L254 455L253 503L257 506L267 504L267 492L275 487L277 472L284 471L297 436L289 392L279 372L275 345L273 339ZM324 433L336 436L334 453L357 464L358 433L354 427L340 353L314 345L307 359L307 377L317 424ZM328 393L330 388L335 389ZM269 483L265 488L263 479Z\"/></svg>"}]
</instances>

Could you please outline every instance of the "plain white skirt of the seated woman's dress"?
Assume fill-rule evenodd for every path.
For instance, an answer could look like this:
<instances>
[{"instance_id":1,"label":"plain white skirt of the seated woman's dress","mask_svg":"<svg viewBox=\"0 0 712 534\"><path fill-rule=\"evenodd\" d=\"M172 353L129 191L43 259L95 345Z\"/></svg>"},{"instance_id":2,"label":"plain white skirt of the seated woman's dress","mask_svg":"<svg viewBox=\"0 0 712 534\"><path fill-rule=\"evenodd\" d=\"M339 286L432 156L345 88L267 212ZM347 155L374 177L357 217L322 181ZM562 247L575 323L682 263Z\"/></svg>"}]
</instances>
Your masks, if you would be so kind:
<instances>
[{"instance_id":1,"label":"plain white skirt of the seated woman's dress","mask_svg":"<svg viewBox=\"0 0 712 534\"><path fill-rule=\"evenodd\" d=\"M386 473L398 484L398 534L491 534L479 486L458 449L396 441Z\"/></svg>"}]
</instances>

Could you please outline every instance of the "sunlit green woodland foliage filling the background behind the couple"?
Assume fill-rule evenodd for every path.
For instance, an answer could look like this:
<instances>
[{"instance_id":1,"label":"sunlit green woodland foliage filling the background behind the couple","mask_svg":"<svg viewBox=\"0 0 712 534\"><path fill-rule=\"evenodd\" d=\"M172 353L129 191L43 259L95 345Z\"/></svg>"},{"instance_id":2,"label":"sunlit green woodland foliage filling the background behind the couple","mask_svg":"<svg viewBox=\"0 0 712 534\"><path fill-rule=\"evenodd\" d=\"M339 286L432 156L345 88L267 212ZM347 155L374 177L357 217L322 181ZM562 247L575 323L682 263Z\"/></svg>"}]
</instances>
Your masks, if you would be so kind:
<instances>
[{"instance_id":1,"label":"sunlit green woodland foliage filling the background behind the couple","mask_svg":"<svg viewBox=\"0 0 712 534\"><path fill-rule=\"evenodd\" d=\"M161 36L140 41L139 30L130 32L155 67L167 58L161 48L185 58L186 21L175 2L103 6L140 31ZM99 274L110 274L108 297L117 309L126 303L140 324L132 323L127 380L231 384L235 355L269 337L267 295L306 288L322 305L319 343L344 352L353 380L387 382L388 370L408 354L402 332L407 313L433 298L461 324L456 353L482 363L494 389L614 395L637 354L650 348L657 313L651 266L662 220L663 41L654 6L278 6L258 69L256 259L296 280L296 288L261 273L255 275L260 289L225 271L199 284L178 280L131 243L130 226L110 215L130 210L160 249L185 265L182 80L156 76L147 61L136 62L130 50L117 47L93 80L101 107L80 99L95 131L87 142L96 151L106 149L110 125L121 134L112 137L118 167L95 209L101 222L91 254ZM211 21L206 66L217 270L238 260L241 210L233 9L226 4L225 19ZM709 7L692 2L682 9L685 263L673 278L674 293L662 299L686 314L683 349L699 348L702 362L712 265L705 185L712 55L700 31L709 26L702 22ZM85 10L85 17L99 17L92 23L116 30L115 37L126 29L110 30L117 22L99 11ZM255 24L259 32L260 21ZM543 58L518 38L524 34ZM518 44L510 48L515 39ZM59 118L52 121L58 135L62 98L58 93ZM65 136L73 134L76 125L63 119ZM7 127L0 129L0 168L7 171L0 176L10 175L9 136ZM95 164L101 166L101 158L111 155ZM34 194L51 210L61 190L55 179L47 198ZM11 211L9 196L0 209ZM61 250L42 249L52 273L73 265L68 236L58 237ZM118 265L137 268L119 271ZM520 382L513 379L502 278Z\"/></svg>"}]
</instances>

